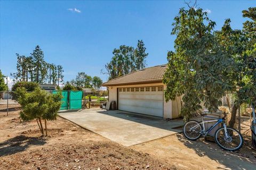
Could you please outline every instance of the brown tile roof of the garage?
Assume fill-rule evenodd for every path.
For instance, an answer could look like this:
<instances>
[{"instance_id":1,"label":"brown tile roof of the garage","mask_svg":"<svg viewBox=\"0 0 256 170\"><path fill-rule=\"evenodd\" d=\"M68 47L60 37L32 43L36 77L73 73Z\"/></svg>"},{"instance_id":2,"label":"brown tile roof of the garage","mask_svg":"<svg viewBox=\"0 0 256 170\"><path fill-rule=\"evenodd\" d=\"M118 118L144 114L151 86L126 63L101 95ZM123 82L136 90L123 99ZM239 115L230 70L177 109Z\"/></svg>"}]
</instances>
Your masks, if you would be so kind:
<instances>
[{"instance_id":1,"label":"brown tile roof of the garage","mask_svg":"<svg viewBox=\"0 0 256 170\"><path fill-rule=\"evenodd\" d=\"M102 86L118 86L162 82L165 70L166 64L148 67L105 82L102 84Z\"/></svg>"}]
</instances>

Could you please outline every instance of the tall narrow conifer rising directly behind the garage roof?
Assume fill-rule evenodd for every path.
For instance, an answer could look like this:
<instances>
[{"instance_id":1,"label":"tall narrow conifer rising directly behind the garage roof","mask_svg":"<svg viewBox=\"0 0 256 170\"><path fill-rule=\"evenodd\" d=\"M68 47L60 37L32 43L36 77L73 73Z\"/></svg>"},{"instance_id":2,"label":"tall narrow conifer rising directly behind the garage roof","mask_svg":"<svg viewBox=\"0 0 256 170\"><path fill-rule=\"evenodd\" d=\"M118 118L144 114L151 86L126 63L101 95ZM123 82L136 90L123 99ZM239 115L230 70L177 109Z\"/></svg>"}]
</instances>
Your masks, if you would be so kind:
<instances>
[{"instance_id":1,"label":"tall narrow conifer rising directly behind the garage roof","mask_svg":"<svg viewBox=\"0 0 256 170\"><path fill-rule=\"evenodd\" d=\"M140 70L146 67L146 58L148 53L146 53L146 47L142 40L138 40L137 48L135 49L135 65L136 69Z\"/></svg>"}]
</instances>

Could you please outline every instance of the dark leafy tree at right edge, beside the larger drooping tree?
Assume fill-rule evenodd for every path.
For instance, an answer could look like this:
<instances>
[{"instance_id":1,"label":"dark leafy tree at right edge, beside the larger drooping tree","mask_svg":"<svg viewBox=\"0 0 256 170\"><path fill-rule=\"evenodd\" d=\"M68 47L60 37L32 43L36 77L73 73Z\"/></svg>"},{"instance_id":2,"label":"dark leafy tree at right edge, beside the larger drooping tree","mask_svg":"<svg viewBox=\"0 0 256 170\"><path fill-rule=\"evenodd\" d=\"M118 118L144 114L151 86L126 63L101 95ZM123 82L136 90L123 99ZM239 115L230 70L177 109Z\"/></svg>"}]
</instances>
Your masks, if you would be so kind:
<instances>
[{"instance_id":1,"label":"dark leafy tree at right edge, beside the larger drooping tree","mask_svg":"<svg viewBox=\"0 0 256 170\"><path fill-rule=\"evenodd\" d=\"M223 50L231 54L239 69L238 72L231 74L238 89L233 91L236 100L231 109L229 121L231 127L236 122L237 109L243 103L256 103L256 8L244 10L243 16L251 19L244 22L243 30L233 30L230 26L230 19L227 19L222 29L215 32Z\"/></svg>"}]
</instances>

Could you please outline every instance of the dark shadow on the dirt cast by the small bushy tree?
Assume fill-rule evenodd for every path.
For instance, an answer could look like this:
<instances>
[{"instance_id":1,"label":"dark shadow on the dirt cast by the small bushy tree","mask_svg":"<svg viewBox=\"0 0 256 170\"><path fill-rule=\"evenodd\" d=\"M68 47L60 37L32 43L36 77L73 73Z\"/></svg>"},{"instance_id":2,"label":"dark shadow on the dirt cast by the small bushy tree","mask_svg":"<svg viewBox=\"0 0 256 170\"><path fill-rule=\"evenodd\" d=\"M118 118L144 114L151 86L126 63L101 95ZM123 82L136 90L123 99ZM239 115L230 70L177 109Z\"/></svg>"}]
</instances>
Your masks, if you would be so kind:
<instances>
[{"instance_id":1,"label":"dark shadow on the dirt cast by the small bushy tree","mask_svg":"<svg viewBox=\"0 0 256 170\"><path fill-rule=\"evenodd\" d=\"M19 135L0 143L0 157L16 154L25 151L30 146L44 145L45 143L45 139L41 137L36 138Z\"/></svg>"}]
</instances>

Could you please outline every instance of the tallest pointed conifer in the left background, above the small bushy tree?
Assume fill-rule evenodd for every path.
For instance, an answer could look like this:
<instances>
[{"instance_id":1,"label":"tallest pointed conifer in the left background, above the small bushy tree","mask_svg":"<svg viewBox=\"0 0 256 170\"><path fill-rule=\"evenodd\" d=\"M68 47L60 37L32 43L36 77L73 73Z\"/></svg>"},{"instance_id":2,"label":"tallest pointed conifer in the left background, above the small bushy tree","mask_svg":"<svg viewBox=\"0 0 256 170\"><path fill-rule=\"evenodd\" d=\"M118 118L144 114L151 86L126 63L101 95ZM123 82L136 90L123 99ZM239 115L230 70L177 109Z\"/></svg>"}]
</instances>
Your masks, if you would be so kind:
<instances>
[{"instance_id":1,"label":"tallest pointed conifer in the left background, above the small bushy tree","mask_svg":"<svg viewBox=\"0 0 256 170\"><path fill-rule=\"evenodd\" d=\"M45 77L46 63L44 61L44 53L38 45L31 53L31 57L35 66L35 82L42 83Z\"/></svg>"}]
</instances>

